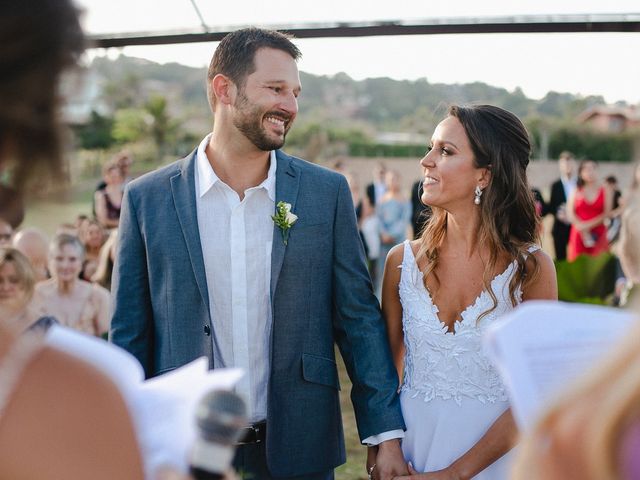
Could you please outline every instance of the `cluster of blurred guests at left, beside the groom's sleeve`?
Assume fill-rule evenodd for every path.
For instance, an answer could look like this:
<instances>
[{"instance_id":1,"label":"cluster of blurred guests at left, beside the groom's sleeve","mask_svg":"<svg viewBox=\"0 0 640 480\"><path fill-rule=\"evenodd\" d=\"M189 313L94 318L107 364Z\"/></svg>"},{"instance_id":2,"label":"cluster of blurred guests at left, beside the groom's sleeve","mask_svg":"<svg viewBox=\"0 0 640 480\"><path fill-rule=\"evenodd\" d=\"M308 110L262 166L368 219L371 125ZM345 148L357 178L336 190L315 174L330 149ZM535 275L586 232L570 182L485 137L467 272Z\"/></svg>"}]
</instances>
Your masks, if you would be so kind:
<instances>
[{"instance_id":1,"label":"cluster of blurred guests at left, beside the groom's sleeve","mask_svg":"<svg viewBox=\"0 0 640 480\"><path fill-rule=\"evenodd\" d=\"M117 227L131 156L103 168L94 215L61 224L54 237L0 217L0 316L19 330L53 323L106 338Z\"/></svg>"}]
</instances>

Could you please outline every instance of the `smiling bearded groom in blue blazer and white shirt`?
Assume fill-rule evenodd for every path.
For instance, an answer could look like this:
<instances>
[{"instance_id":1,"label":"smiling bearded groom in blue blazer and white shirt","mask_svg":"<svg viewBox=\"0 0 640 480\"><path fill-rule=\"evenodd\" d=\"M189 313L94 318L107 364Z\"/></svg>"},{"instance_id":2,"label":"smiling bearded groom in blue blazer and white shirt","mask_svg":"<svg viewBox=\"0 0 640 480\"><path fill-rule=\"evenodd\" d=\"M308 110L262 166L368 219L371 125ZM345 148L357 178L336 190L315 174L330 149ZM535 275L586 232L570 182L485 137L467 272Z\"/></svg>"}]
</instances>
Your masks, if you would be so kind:
<instances>
[{"instance_id":1,"label":"smiling bearded groom in blue blazer and white shirt","mask_svg":"<svg viewBox=\"0 0 640 480\"><path fill-rule=\"evenodd\" d=\"M274 31L220 42L213 132L127 187L111 338L148 377L202 355L243 368L252 425L234 465L255 479L330 479L344 463L335 342L360 438L379 445L374 477L391 478L406 473L398 378L347 182L279 150L299 56Z\"/></svg>"}]
</instances>

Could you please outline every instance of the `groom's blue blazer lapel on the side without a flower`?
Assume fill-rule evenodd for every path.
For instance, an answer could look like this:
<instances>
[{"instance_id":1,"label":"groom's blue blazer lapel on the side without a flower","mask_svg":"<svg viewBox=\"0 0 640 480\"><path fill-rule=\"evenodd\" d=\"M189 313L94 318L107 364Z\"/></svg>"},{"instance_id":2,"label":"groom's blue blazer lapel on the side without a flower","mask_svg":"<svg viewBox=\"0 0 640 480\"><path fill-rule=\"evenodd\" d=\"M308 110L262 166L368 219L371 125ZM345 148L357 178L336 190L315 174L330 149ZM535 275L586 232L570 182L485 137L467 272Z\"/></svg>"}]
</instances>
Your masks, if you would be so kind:
<instances>
[{"instance_id":1,"label":"groom's blue blazer lapel on the side without a flower","mask_svg":"<svg viewBox=\"0 0 640 480\"><path fill-rule=\"evenodd\" d=\"M191 268L196 277L198 290L207 309L209 309L207 277L204 271L196 209L195 165L196 151L184 160L180 173L171 177L171 193L173 194L173 203L178 214L178 221L182 228L182 235L187 244ZM209 314L211 314L210 311Z\"/></svg>"}]
</instances>

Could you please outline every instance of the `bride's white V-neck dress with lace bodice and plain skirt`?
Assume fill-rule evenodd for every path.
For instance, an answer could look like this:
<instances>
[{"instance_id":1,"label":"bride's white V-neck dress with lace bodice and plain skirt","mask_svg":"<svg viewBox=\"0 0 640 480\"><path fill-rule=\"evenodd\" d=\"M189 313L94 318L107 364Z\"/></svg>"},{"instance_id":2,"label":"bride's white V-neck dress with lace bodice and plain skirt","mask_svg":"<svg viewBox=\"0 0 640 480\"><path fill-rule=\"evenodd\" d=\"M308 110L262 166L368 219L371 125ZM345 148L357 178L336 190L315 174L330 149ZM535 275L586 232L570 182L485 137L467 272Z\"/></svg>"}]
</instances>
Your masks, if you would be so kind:
<instances>
[{"instance_id":1,"label":"bride's white V-neck dress with lace bodice and plain skirt","mask_svg":"<svg viewBox=\"0 0 640 480\"><path fill-rule=\"evenodd\" d=\"M462 456L509 407L498 373L483 353L481 338L488 325L513 309L509 282L515 262L491 282L497 308L478 322L480 314L493 305L489 294L482 292L462 312L454 333L440 321L408 241L401 268L406 355L400 401L407 425L402 450L417 471L431 472ZM521 296L518 289L516 298ZM508 478L511 456L503 456L474 478Z\"/></svg>"}]
</instances>

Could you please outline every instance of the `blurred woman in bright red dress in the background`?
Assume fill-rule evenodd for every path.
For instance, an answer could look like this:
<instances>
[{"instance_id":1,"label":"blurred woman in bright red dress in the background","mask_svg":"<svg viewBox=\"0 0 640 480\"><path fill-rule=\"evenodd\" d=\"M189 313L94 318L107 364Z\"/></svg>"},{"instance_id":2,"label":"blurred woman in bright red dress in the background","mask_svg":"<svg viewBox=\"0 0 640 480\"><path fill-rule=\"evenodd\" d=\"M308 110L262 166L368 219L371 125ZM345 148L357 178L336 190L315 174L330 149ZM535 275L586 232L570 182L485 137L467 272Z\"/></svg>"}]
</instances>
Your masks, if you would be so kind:
<instances>
[{"instance_id":1,"label":"blurred woman in bright red dress in the background","mask_svg":"<svg viewBox=\"0 0 640 480\"><path fill-rule=\"evenodd\" d=\"M607 227L604 220L611 213L611 191L598 179L598 164L585 160L578 167L578 188L567 203L571 233L567 259L572 262L578 255L599 255L609 249Z\"/></svg>"}]
</instances>

